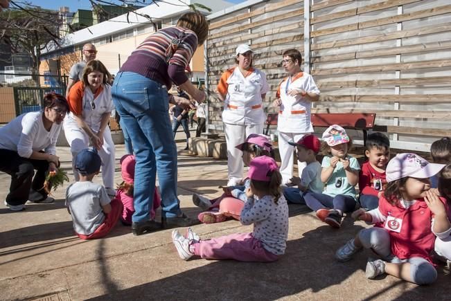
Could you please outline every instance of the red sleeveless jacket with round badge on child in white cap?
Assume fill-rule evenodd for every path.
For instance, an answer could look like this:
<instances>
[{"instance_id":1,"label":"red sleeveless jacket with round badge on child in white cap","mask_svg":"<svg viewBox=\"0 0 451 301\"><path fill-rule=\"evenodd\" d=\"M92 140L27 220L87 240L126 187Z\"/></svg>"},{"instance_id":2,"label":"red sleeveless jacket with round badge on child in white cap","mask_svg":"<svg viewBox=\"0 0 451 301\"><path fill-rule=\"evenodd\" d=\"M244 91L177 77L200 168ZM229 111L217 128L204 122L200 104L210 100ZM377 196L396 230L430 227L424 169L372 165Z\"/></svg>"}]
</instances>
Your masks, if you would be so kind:
<instances>
[{"instance_id":1,"label":"red sleeveless jacket with round badge on child in white cap","mask_svg":"<svg viewBox=\"0 0 451 301\"><path fill-rule=\"evenodd\" d=\"M448 204L441 198L448 210ZM384 229L389 232L391 253L399 259L422 257L432 263L435 235L431 230L432 212L424 199L418 199L408 209L391 205L383 196L379 210L387 217Z\"/></svg>"}]
</instances>

